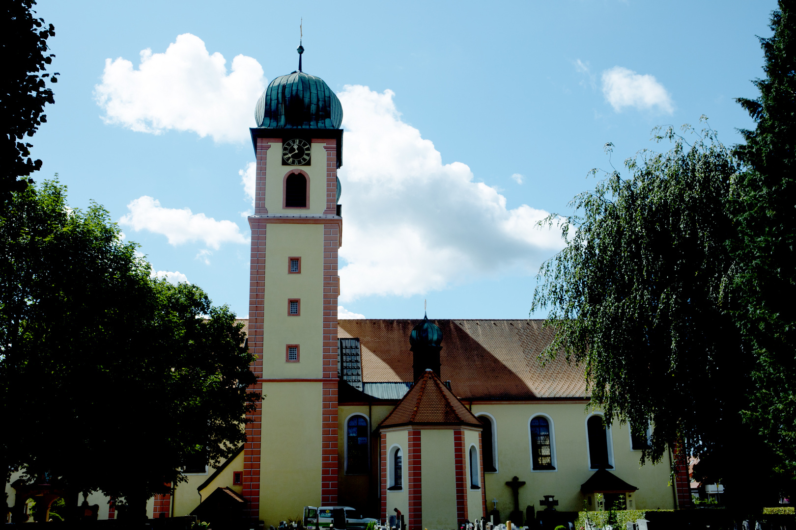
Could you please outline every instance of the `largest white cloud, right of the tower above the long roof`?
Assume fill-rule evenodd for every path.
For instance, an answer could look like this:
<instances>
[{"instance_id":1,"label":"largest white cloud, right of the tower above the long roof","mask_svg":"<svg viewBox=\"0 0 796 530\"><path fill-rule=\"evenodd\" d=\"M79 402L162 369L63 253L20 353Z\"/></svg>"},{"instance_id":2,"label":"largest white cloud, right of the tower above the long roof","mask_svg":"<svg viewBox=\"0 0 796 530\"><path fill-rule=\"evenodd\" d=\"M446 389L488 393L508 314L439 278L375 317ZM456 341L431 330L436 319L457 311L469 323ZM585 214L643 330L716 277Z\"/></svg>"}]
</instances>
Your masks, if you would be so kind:
<instances>
[{"instance_id":1,"label":"largest white cloud, right of the tower above the long roof","mask_svg":"<svg viewBox=\"0 0 796 530\"><path fill-rule=\"evenodd\" d=\"M508 209L497 189L461 162L443 164L434 144L404 123L393 92L347 86L341 301L412 296L515 269L535 271L562 247L548 215Z\"/></svg>"}]
</instances>

